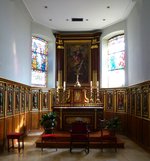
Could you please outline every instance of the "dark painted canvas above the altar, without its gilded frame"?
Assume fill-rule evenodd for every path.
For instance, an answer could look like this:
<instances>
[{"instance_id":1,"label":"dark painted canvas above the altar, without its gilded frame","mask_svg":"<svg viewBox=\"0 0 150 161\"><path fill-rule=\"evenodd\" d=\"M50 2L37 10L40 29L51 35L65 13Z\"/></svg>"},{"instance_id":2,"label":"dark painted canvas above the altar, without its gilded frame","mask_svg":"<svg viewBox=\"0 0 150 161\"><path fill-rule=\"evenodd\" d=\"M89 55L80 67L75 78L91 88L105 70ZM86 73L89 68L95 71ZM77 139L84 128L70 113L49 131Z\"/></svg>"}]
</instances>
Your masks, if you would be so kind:
<instances>
[{"instance_id":1,"label":"dark painted canvas above the altar, without its gilded frame","mask_svg":"<svg viewBox=\"0 0 150 161\"><path fill-rule=\"evenodd\" d=\"M67 46L67 83L88 83L89 81L89 45L71 44Z\"/></svg>"}]
</instances>

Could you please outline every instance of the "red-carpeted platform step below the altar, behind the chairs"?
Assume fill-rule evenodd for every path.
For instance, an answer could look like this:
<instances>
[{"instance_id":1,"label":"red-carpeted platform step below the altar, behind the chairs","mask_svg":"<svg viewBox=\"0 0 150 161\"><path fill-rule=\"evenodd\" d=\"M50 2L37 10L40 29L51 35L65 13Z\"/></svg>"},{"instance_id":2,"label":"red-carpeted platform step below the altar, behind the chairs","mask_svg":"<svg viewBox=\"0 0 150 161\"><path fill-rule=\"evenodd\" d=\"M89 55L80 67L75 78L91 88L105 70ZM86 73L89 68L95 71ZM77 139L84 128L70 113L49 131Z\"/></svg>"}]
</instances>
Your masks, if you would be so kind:
<instances>
[{"instance_id":1,"label":"red-carpeted platform step below the altar, behind the chairs","mask_svg":"<svg viewBox=\"0 0 150 161\"><path fill-rule=\"evenodd\" d=\"M47 141L44 143L43 147L47 148L69 148L70 147L70 133L69 132L56 132L57 134L57 142ZM100 141L100 132L92 132L90 133L90 148L98 149L101 147ZM41 147L41 137L36 141L36 147ZM112 148L113 145L109 143L105 143L103 145L104 148ZM124 142L117 137L117 148L124 148Z\"/></svg>"}]
</instances>

